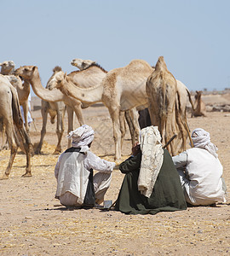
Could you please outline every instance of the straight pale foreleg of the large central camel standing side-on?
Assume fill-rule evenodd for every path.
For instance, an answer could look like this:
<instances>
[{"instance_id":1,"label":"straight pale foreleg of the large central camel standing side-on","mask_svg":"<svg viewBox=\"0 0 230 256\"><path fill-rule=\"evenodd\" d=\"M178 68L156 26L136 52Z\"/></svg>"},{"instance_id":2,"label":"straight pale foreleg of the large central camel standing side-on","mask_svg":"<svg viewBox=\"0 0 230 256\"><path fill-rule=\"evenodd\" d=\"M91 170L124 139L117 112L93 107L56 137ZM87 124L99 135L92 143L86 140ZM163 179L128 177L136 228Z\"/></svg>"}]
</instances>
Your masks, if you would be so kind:
<instances>
[{"instance_id":1,"label":"straight pale foreleg of the large central camel standing side-on","mask_svg":"<svg viewBox=\"0 0 230 256\"><path fill-rule=\"evenodd\" d=\"M121 159L121 131L119 124L119 108L113 107L108 108L113 126L113 139L115 143L115 160Z\"/></svg>"}]
</instances>

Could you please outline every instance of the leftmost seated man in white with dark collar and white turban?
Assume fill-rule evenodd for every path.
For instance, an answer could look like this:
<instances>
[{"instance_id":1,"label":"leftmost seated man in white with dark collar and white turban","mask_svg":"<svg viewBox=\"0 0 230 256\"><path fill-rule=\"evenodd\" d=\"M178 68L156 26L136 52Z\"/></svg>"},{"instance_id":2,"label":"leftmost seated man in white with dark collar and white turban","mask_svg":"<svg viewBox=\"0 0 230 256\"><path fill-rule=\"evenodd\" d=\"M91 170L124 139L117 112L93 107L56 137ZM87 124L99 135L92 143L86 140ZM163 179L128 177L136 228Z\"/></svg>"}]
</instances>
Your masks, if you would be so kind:
<instances>
[{"instance_id":1,"label":"leftmost seated man in white with dark collar and white turban","mask_svg":"<svg viewBox=\"0 0 230 256\"><path fill-rule=\"evenodd\" d=\"M72 148L60 154L55 166L55 198L66 207L94 207L104 201L115 163L101 160L89 151L95 131L82 125L71 131ZM93 169L98 173L93 176Z\"/></svg>"}]
</instances>

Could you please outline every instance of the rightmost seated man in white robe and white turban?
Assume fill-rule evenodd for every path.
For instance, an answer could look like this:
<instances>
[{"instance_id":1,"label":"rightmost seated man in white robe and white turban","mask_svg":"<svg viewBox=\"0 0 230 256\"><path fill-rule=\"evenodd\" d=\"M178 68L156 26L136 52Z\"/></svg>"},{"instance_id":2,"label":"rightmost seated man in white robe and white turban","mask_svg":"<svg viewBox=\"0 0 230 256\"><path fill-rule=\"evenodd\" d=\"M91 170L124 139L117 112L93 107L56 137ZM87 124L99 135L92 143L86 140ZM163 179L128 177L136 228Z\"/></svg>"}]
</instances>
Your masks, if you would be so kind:
<instances>
[{"instance_id":1,"label":"rightmost seated man in white robe and white turban","mask_svg":"<svg viewBox=\"0 0 230 256\"><path fill-rule=\"evenodd\" d=\"M208 206L217 201L225 202L223 167L210 142L210 133L197 128L192 132L194 148L174 156L186 201L193 206Z\"/></svg>"}]
</instances>

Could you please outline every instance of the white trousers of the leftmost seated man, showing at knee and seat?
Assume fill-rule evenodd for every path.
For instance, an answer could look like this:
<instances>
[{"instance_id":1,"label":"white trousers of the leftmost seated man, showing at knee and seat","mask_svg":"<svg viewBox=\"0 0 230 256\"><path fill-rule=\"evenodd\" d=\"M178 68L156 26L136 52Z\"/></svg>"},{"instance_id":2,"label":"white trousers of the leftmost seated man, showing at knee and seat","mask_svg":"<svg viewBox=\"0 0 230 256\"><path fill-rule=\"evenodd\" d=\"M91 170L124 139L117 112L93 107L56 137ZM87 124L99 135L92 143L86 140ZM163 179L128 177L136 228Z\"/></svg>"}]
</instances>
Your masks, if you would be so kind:
<instances>
[{"instance_id":1,"label":"white trousers of the leftmost seated man, showing at knee and seat","mask_svg":"<svg viewBox=\"0 0 230 256\"><path fill-rule=\"evenodd\" d=\"M94 176L93 183L95 189L95 203L101 204L104 201L104 196L110 186L112 173L97 172ZM66 192L60 195L60 203L65 207L80 207L78 196L71 192Z\"/></svg>"}]
</instances>

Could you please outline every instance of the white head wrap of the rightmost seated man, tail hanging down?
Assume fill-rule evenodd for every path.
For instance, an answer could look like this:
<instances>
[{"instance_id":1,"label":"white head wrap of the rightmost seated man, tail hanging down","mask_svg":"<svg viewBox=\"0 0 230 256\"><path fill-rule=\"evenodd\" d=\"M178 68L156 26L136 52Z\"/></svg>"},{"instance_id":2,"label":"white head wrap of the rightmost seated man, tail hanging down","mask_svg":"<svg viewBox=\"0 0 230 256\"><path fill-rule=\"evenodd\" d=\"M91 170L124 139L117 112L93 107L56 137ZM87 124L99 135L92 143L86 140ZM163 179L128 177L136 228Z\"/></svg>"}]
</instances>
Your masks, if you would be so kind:
<instances>
[{"instance_id":1,"label":"white head wrap of the rightmost seated man, tail hanging down","mask_svg":"<svg viewBox=\"0 0 230 256\"><path fill-rule=\"evenodd\" d=\"M218 148L216 145L210 142L210 133L208 131L204 131L202 128L197 128L192 132L192 140L194 144L194 148L204 148L213 154L216 158L218 154L216 151Z\"/></svg>"}]
</instances>

